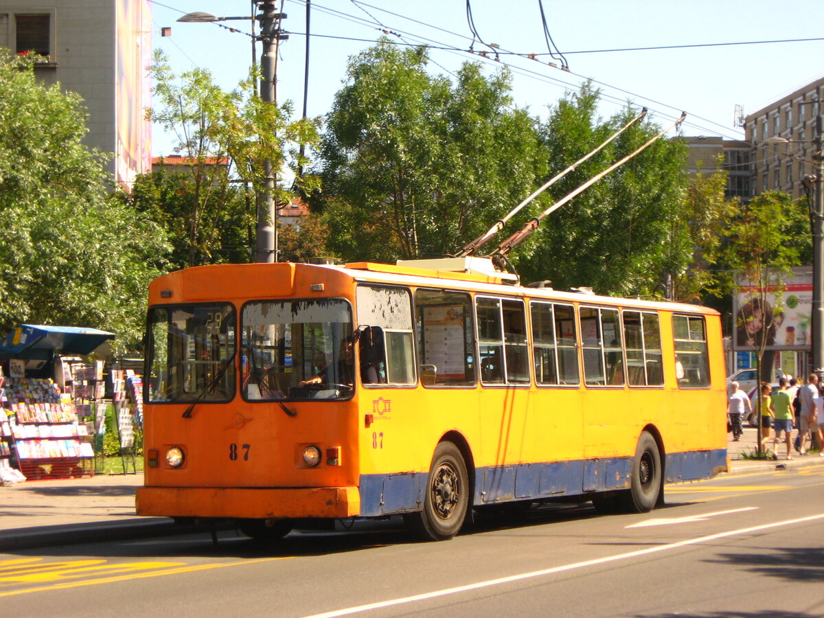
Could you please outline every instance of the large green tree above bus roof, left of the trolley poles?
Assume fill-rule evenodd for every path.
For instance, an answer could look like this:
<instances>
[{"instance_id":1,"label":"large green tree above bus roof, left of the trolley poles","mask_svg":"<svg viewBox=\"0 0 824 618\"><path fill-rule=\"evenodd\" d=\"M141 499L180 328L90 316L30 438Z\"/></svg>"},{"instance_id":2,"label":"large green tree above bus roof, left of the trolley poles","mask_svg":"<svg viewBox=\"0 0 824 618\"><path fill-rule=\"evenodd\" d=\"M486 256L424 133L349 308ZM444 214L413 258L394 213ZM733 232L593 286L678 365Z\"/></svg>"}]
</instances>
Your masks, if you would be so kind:
<instances>
[{"instance_id":1,"label":"large green tree above bus roof, left of the trolley poles","mask_svg":"<svg viewBox=\"0 0 824 618\"><path fill-rule=\"evenodd\" d=\"M345 259L451 253L532 190L537 135L513 109L508 73L485 77L466 63L453 84L427 62L424 49L386 40L349 60L315 200Z\"/></svg>"}]
</instances>

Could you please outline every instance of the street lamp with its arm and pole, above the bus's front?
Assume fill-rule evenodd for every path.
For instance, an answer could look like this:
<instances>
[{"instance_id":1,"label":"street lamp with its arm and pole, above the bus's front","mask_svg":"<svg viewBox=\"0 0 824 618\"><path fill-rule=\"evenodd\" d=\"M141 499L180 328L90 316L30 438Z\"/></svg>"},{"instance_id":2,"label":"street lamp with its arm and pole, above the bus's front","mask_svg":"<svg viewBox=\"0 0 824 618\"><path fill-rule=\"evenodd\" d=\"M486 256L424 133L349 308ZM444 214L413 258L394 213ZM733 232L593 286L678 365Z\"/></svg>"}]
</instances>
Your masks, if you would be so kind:
<instances>
[{"instance_id":1,"label":"street lamp with its arm and pole, above the bus's front","mask_svg":"<svg viewBox=\"0 0 824 618\"><path fill-rule=\"evenodd\" d=\"M275 0L258 0L260 13L255 19L260 22L260 36L263 42L263 55L260 58L260 98L273 105L275 97L275 63L278 58L278 41L288 39L275 24L286 17L285 13L275 10ZM184 23L213 23L216 21L250 20L251 17L218 17L212 13L186 13L177 21ZM219 24L218 24L219 26ZM225 26L224 26L225 27ZM258 191L257 231L255 235L255 262L276 262L278 259L278 211L274 204L275 175L272 162L263 162L265 185Z\"/></svg>"}]
</instances>

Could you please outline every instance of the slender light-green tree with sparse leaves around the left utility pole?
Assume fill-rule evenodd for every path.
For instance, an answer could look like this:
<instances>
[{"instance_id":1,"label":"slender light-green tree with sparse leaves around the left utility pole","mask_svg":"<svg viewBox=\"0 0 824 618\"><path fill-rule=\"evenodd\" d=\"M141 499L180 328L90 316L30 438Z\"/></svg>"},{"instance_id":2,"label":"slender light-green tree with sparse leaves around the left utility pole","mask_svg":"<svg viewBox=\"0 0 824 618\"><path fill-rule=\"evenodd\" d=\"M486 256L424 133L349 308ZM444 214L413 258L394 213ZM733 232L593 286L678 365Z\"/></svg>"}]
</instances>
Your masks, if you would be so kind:
<instances>
[{"instance_id":1,"label":"slender light-green tree with sparse leaves around the left utility pole","mask_svg":"<svg viewBox=\"0 0 824 618\"><path fill-rule=\"evenodd\" d=\"M174 136L174 152L185 157L190 180L173 179L172 185L186 186L168 201L167 192L148 196L151 208L166 213L176 247L185 247L185 265L248 261L249 252L235 245L247 241L248 230L255 225L254 194L267 180L264 162L271 162L274 170L296 171L305 165L307 159L297 155L294 145L316 143L316 122L291 120L291 104L274 105L255 96L253 85L259 76L254 73L226 92L205 69L176 76L157 52L152 75L159 105L149 117ZM311 180L298 176L296 183L311 189ZM247 187L247 193L238 187ZM277 186L277 202L286 204L293 197L292 191Z\"/></svg>"}]
</instances>

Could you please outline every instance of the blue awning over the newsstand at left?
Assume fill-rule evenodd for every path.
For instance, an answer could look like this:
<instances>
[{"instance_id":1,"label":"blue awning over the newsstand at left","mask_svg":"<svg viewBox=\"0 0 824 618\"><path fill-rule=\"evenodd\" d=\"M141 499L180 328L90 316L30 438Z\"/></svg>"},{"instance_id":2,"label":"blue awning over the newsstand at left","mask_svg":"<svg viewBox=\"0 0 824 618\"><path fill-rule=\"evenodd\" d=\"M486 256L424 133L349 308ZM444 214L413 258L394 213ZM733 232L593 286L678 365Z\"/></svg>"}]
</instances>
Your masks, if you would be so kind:
<instances>
[{"instance_id":1,"label":"blue awning over the newsstand at left","mask_svg":"<svg viewBox=\"0 0 824 618\"><path fill-rule=\"evenodd\" d=\"M54 354L88 354L114 333L81 326L21 324L0 343L0 358L51 358Z\"/></svg>"}]
</instances>

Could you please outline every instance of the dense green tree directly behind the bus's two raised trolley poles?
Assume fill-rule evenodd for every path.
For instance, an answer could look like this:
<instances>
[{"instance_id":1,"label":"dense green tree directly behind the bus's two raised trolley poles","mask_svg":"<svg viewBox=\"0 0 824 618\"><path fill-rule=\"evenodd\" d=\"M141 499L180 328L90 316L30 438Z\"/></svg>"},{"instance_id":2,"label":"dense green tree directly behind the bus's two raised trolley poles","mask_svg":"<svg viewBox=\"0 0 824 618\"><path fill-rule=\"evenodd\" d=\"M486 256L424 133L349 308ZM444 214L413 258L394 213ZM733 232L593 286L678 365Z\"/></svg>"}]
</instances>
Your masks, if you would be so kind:
<instances>
[{"instance_id":1,"label":"dense green tree directly behind the bus's two raised trolley poles","mask_svg":"<svg viewBox=\"0 0 824 618\"><path fill-rule=\"evenodd\" d=\"M541 129L550 162L547 176L583 157L637 115L627 108L603 120L598 101L598 91L585 85L550 109ZM553 185L543 205L569 194L661 130L648 119L634 124ZM552 213L513 255L522 278L550 279L559 289L587 286L606 294L655 293L667 268L681 269L691 259L667 251L670 222L686 185L685 158L681 143L659 139ZM531 208L538 213L542 205ZM680 264L672 264L674 259Z\"/></svg>"}]
</instances>

